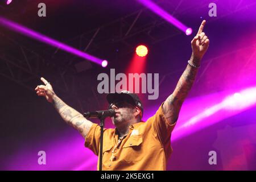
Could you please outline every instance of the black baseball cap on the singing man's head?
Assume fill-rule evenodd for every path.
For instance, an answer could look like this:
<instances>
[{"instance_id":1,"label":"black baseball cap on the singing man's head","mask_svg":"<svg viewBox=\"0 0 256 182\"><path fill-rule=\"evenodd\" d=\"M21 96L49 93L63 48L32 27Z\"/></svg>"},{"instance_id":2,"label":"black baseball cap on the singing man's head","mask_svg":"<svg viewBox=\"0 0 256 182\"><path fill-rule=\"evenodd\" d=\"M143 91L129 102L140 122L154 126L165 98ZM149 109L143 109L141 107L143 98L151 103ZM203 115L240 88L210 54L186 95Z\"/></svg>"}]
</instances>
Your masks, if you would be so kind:
<instances>
[{"instance_id":1,"label":"black baseball cap on the singing man's head","mask_svg":"<svg viewBox=\"0 0 256 182\"><path fill-rule=\"evenodd\" d=\"M130 103L131 105L138 106L139 109L141 109L141 113L143 115L143 105L141 100L139 99L139 96L135 93L130 93L127 90L123 90L122 92L115 92L115 93L109 93L106 96L106 99L108 100L109 104L113 104L117 101L126 101Z\"/></svg>"}]
</instances>

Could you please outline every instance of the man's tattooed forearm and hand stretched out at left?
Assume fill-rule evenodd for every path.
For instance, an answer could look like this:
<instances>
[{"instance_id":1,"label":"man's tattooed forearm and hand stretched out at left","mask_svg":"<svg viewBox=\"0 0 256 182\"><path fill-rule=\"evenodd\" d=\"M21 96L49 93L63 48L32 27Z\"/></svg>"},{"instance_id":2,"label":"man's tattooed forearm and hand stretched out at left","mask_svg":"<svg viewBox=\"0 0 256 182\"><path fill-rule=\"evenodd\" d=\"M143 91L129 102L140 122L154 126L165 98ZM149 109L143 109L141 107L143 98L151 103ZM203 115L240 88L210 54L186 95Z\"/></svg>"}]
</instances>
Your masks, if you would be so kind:
<instances>
[{"instance_id":1,"label":"man's tattooed forearm and hand stretched out at left","mask_svg":"<svg viewBox=\"0 0 256 182\"><path fill-rule=\"evenodd\" d=\"M85 138L93 123L85 119L82 114L65 104L65 102L57 97L52 89L52 86L46 79L41 78L41 80L45 85L39 85L35 88L38 96L46 97L46 100L53 104L61 118L63 118L66 123L78 130L82 137Z\"/></svg>"}]
</instances>

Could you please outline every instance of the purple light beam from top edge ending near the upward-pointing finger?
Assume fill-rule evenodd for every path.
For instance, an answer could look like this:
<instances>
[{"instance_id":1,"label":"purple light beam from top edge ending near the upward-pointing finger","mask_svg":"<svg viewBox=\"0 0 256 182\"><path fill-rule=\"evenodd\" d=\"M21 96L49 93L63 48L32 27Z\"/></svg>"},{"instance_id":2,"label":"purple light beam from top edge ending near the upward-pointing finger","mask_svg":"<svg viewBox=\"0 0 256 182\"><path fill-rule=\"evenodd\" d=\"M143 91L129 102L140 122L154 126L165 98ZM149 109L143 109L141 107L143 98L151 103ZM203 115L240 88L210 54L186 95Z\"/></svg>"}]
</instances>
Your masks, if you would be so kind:
<instances>
[{"instance_id":1,"label":"purple light beam from top edge ending near the upward-pointing finger","mask_svg":"<svg viewBox=\"0 0 256 182\"><path fill-rule=\"evenodd\" d=\"M191 35L192 28L185 26L179 20L174 18L174 16L168 14L167 11L164 11L161 7L156 5L154 2L151 2L150 0L137 0L137 1L142 3L142 5L146 6L148 9L153 11L155 14L157 14L157 15L161 16L163 19L167 20L167 22L174 24L174 26L179 28L181 31L185 32L186 35Z\"/></svg>"}]
</instances>

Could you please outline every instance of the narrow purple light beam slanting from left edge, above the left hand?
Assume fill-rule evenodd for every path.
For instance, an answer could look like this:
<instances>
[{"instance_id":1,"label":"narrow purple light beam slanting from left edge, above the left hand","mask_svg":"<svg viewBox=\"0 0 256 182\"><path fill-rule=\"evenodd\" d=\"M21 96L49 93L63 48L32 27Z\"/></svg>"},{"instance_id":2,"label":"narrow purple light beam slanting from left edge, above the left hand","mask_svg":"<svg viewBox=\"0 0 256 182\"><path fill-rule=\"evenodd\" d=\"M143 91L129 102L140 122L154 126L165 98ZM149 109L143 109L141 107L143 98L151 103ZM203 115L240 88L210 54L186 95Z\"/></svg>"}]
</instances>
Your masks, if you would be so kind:
<instances>
[{"instance_id":1,"label":"narrow purple light beam slanting from left edge, above the left hand","mask_svg":"<svg viewBox=\"0 0 256 182\"><path fill-rule=\"evenodd\" d=\"M57 40L51 39L43 34L33 31L30 28L21 26L20 24L12 22L8 19L0 17L0 25L4 26L6 28L9 28L15 32L18 32L19 34L23 34L32 39L39 40L40 42L46 43L49 46L59 48L63 51L72 53L73 55L76 55L76 56L82 57L86 60L92 61L93 63L100 64L100 65L102 65L102 67L104 67L103 65L105 65L105 67L106 67L106 65L108 65L108 64L106 64L106 60L101 60L97 57L89 55L88 53L82 52L78 49L68 46L67 44L58 42Z\"/></svg>"}]
</instances>

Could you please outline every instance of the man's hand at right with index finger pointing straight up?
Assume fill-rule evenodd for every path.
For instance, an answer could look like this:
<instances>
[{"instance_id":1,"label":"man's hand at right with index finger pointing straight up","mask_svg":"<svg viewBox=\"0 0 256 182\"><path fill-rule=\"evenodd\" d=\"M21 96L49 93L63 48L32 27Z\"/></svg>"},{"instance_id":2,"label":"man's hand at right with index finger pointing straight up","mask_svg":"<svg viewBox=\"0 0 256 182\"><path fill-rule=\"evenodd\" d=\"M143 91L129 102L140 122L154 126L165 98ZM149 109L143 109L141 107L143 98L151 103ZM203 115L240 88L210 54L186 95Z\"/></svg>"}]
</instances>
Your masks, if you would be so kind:
<instances>
[{"instance_id":1,"label":"man's hand at right with index finger pointing straight up","mask_svg":"<svg viewBox=\"0 0 256 182\"><path fill-rule=\"evenodd\" d=\"M193 40L191 41L192 58L198 61L202 59L210 43L208 36L205 35L205 33L203 32L205 23L206 20L203 20L195 38L193 38Z\"/></svg>"}]
</instances>

